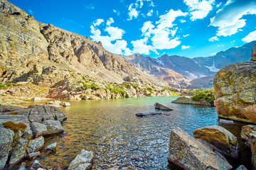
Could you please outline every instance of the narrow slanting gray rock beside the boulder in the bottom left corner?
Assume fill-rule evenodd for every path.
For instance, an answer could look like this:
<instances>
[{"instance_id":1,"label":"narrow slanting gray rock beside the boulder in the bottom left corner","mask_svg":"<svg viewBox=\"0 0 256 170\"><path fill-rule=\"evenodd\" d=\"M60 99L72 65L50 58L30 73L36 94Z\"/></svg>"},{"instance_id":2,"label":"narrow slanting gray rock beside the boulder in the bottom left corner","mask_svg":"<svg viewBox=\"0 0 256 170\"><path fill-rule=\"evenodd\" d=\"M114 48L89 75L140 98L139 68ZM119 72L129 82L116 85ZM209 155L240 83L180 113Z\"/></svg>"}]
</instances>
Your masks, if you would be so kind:
<instances>
[{"instance_id":1,"label":"narrow slanting gray rock beside the boulder in the bottom left corner","mask_svg":"<svg viewBox=\"0 0 256 170\"><path fill-rule=\"evenodd\" d=\"M18 140L17 145L14 147L13 152L11 152L11 159L9 162L9 166L12 167L18 162L23 159L23 157L26 157L26 148L28 146L28 140L24 140L20 138Z\"/></svg>"}]
</instances>

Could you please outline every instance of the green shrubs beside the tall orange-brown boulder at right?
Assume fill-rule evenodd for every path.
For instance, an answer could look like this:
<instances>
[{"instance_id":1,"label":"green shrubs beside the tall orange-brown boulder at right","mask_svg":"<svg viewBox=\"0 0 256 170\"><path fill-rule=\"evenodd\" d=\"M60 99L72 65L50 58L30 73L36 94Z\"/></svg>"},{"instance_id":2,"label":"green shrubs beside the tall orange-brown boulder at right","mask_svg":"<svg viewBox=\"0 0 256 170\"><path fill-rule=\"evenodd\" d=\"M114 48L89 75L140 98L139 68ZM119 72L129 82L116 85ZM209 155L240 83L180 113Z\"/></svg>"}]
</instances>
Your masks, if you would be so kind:
<instances>
[{"instance_id":1,"label":"green shrubs beside the tall orange-brown boulder at right","mask_svg":"<svg viewBox=\"0 0 256 170\"><path fill-rule=\"evenodd\" d=\"M214 91L213 89L198 89L196 90L195 96L192 97L193 101L205 100L207 103L210 103L211 106L214 105Z\"/></svg>"}]
</instances>

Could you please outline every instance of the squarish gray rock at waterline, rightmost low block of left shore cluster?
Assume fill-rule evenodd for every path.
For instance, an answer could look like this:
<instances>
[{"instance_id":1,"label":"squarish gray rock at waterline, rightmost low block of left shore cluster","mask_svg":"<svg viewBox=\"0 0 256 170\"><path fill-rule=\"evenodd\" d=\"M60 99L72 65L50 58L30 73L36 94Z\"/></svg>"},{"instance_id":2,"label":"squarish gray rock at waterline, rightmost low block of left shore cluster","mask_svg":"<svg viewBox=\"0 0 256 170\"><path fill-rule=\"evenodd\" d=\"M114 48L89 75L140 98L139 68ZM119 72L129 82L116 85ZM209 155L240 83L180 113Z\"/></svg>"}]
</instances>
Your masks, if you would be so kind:
<instances>
[{"instance_id":1,"label":"squarish gray rock at waterline, rightmost low block of left shore cluster","mask_svg":"<svg viewBox=\"0 0 256 170\"><path fill-rule=\"evenodd\" d=\"M64 129L60 124L60 121L58 120L46 120L46 121L43 121L43 124L46 125L46 128L47 128L46 135L53 135L56 133L64 132Z\"/></svg>"}]
</instances>

